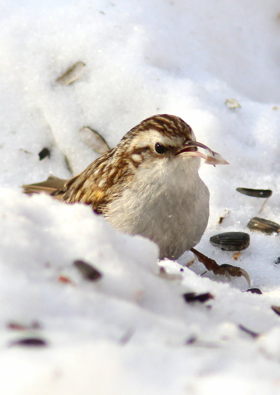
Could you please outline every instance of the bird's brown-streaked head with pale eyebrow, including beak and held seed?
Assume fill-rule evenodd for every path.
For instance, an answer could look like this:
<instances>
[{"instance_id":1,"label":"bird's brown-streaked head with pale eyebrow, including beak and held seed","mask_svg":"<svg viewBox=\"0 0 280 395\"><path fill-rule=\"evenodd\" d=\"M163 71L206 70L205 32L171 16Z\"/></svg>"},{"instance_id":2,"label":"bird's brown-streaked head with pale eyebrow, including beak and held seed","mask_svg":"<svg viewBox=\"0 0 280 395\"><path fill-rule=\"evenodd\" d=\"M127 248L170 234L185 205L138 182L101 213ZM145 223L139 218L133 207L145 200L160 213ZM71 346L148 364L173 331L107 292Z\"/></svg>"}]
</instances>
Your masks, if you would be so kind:
<instances>
[{"instance_id":1,"label":"bird's brown-streaked head with pale eyebrow, including beak and held seed","mask_svg":"<svg viewBox=\"0 0 280 395\"><path fill-rule=\"evenodd\" d=\"M196 142L191 127L174 115L154 115L143 120L126 133L120 145L135 168L151 168L165 163L186 164L186 159L198 168L199 157L207 164L228 163L217 152Z\"/></svg>"}]
</instances>

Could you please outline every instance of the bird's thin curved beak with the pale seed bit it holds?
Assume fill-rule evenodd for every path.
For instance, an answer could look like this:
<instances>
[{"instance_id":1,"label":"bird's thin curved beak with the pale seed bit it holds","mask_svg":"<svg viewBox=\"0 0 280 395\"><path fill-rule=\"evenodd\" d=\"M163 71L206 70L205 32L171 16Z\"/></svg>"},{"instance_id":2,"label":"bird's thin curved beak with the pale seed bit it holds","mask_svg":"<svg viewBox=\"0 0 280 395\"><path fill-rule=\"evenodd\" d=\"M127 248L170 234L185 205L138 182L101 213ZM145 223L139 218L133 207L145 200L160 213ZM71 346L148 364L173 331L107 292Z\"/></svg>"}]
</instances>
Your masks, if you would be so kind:
<instances>
[{"instance_id":1,"label":"bird's thin curved beak with the pale seed bit it holds","mask_svg":"<svg viewBox=\"0 0 280 395\"><path fill-rule=\"evenodd\" d=\"M197 147L203 148L206 153L198 151ZM228 165L229 163L223 159L218 152L212 151L207 145L198 143L197 141L188 140L183 148L176 152L176 155L184 154L184 156L199 156L205 159L208 165Z\"/></svg>"}]
</instances>

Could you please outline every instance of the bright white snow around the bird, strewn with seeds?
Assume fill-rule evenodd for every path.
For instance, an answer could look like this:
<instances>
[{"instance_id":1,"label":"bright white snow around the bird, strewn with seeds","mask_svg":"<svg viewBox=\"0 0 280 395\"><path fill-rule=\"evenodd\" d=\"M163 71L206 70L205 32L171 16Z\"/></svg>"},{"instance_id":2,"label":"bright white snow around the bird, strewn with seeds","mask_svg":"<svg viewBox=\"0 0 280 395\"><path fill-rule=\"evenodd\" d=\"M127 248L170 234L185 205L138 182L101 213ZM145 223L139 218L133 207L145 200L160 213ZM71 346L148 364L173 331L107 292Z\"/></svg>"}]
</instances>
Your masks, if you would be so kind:
<instances>
[{"instance_id":1,"label":"bright white snow around the bird, strewn with seeds","mask_svg":"<svg viewBox=\"0 0 280 395\"><path fill-rule=\"evenodd\" d=\"M271 309L280 305L279 236L249 231L263 200L236 191L272 189L261 216L280 222L278 1L18 0L0 8L0 393L279 393L280 317ZM75 62L86 64L83 75L57 83ZM89 207L22 194L20 185L49 173L69 178L65 155L74 174L98 156L82 127L114 146L156 113L181 116L230 162L201 165L211 213L197 249L247 270L262 295L243 292L243 278L185 267L190 252L158 262L155 244L121 234ZM51 156L39 160L44 147ZM209 243L226 231L250 233L237 261ZM102 278L85 280L76 259ZM214 299L187 304L182 295L194 291ZM14 344L26 337L46 347Z\"/></svg>"}]
</instances>

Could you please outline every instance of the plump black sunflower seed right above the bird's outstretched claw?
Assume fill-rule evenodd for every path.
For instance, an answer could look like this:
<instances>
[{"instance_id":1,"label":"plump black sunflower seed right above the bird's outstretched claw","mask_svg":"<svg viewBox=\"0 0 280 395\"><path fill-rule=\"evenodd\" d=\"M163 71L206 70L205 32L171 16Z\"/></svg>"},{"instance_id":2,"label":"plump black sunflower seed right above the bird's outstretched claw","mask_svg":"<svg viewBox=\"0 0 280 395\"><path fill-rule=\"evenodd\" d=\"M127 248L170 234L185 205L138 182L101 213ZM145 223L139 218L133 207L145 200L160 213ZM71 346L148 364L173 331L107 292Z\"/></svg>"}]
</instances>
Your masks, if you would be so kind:
<instances>
[{"instance_id":1,"label":"plump black sunflower seed right above the bird's outstretched claw","mask_svg":"<svg viewBox=\"0 0 280 395\"><path fill-rule=\"evenodd\" d=\"M225 232L210 237L210 243L224 251L245 250L250 243L250 236L245 232Z\"/></svg>"}]
</instances>

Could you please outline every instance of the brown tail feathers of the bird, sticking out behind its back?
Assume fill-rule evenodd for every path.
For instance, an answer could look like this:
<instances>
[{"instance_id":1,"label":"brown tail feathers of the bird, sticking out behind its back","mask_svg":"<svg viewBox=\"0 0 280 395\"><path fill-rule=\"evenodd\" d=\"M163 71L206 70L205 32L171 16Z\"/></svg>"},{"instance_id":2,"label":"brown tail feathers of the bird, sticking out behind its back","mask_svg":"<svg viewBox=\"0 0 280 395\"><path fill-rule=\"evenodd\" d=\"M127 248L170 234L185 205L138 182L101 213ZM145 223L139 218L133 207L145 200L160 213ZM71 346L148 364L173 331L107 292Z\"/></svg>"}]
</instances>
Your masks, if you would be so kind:
<instances>
[{"instance_id":1,"label":"brown tail feathers of the bird, sticking out behind its back","mask_svg":"<svg viewBox=\"0 0 280 395\"><path fill-rule=\"evenodd\" d=\"M23 192L28 195L33 193L47 193L56 199L61 200L62 195L65 192L63 189L65 187L65 182L67 180L59 179L55 176L49 176L49 178L42 182L37 182L35 184L22 185Z\"/></svg>"}]
</instances>

